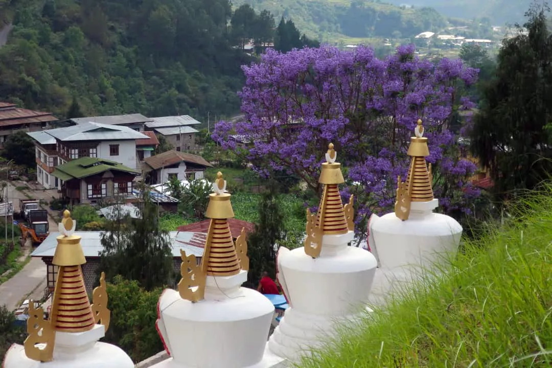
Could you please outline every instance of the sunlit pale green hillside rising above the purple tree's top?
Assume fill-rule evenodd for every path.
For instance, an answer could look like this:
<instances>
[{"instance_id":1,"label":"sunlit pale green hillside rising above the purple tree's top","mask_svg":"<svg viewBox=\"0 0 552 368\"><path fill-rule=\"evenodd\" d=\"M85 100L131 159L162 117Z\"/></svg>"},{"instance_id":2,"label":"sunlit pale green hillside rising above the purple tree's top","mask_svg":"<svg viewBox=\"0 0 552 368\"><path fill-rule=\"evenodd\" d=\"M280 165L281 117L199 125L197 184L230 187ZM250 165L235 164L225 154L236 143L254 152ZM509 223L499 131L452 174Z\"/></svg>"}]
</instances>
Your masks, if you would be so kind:
<instances>
[{"instance_id":1,"label":"sunlit pale green hillside rising above the purple tree's top","mask_svg":"<svg viewBox=\"0 0 552 368\"><path fill-rule=\"evenodd\" d=\"M311 38L325 42L347 38L410 38L423 31L438 31L447 19L431 8L397 7L379 1L358 0L235 0L267 9L275 18L292 18Z\"/></svg>"}]
</instances>

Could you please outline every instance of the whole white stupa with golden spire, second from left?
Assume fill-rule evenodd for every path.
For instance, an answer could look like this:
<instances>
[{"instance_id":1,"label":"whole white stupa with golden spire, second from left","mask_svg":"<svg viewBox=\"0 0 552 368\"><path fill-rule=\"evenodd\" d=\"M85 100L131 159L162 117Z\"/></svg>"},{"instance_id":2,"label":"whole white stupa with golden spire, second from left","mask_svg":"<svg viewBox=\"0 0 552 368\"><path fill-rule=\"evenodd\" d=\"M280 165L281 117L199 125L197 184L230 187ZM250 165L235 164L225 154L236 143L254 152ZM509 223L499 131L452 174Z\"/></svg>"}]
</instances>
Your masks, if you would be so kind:
<instances>
[{"instance_id":1,"label":"whole white stupa with golden spire, second from left","mask_svg":"<svg viewBox=\"0 0 552 368\"><path fill-rule=\"evenodd\" d=\"M158 302L157 329L170 358L155 368L265 368L278 362L264 356L274 305L241 287L249 269L245 232L234 244L230 194L222 174L217 177L201 264L182 252L178 291L163 291Z\"/></svg>"}]
</instances>

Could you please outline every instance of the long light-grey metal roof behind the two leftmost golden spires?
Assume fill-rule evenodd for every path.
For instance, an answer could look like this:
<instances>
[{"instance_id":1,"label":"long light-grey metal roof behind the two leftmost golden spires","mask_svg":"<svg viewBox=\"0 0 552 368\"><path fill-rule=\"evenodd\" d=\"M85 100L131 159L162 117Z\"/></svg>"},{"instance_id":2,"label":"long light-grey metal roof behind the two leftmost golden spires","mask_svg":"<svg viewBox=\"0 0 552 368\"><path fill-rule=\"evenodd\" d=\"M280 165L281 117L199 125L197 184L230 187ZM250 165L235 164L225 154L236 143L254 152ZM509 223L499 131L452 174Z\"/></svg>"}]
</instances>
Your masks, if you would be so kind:
<instances>
[{"instance_id":1,"label":"long light-grey metal roof behind the two leftmost golden spires","mask_svg":"<svg viewBox=\"0 0 552 368\"><path fill-rule=\"evenodd\" d=\"M99 257L99 253L103 250L102 243L100 242L101 231L76 231L74 235L81 237L81 246L86 258ZM172 241L172 253L173 257L181 257L180 250L184 250L187 255L194 254L195 257L203 256L203 248L193 246L192 242L197 238L205 239L205 234L185 232L185 231L171 231ZM51 232L49 236L44 239L44 242L38 246L31 253L31 257L54 257L57 247L57 237L60 236L59 232ZM195 238L194 238L195 237ZM194 239L192 239L194 238Z\"/></svg>"}]
</instances>

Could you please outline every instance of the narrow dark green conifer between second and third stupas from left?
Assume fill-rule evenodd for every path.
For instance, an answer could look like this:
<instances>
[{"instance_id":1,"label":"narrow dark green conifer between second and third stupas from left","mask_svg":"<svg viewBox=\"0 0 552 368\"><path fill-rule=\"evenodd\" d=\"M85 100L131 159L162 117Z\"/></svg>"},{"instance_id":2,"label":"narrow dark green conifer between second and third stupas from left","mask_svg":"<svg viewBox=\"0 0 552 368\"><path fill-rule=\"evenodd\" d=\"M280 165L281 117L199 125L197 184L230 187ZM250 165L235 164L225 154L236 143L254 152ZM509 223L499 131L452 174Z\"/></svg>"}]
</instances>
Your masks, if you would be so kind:
<instances>
[{"instance_id":1,"label":"narrow dark green conifer between second and third stupas from left","mask_svg":"<svg viewBox=\"0 0 552 368\"><path fill-rule=\"evenodd\" d=\"M250 269L245 286L256 287L261 273L267 271L276 276L276 244L285 238L284 214L278 197L272 190L261 196L258 207L259 221L247 237L247 255Z\"/></svg>"}]
</instances>

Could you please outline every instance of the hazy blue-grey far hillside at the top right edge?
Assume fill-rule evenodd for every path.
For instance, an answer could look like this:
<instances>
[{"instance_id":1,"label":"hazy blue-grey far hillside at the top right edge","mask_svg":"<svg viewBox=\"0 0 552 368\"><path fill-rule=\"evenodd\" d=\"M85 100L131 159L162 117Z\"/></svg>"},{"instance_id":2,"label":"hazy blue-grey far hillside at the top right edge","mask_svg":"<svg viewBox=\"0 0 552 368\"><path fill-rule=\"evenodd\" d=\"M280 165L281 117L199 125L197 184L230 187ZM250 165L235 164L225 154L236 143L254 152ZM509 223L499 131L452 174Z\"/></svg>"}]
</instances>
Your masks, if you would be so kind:
<instances>
[{"instance_id":1,"label":"hazy blue-grey far hillside at the top right edge","mask_svg":"<svg viewBox=\"0 0 552 368\"><path fill-rule=\"evenodd\" d=\"M493 25L523 23L533 0L386 0L389 3L415 7L432 7L447 17L489 18Z\"/></svg>"}]
</instances>

